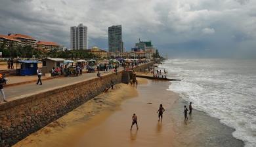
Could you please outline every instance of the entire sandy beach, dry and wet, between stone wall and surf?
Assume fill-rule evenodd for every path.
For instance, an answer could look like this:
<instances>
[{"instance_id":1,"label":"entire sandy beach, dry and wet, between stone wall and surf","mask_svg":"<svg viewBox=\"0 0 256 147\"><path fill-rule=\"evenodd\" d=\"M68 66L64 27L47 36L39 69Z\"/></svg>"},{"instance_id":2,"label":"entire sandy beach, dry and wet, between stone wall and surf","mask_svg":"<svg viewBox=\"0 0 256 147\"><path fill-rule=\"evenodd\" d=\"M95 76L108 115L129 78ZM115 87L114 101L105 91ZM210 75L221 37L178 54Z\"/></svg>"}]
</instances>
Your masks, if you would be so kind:
<instances>
[{"instance_id":1,"label":"entire sandy beach, dry and wet, between stone wall and surf","mask_svg":"<svg viewBox=\"0 0 256 147\"><path fill-rule=\"evenodd\" d=\"M232 137L233 129L203 112L184 121L188 102L166 91L169 84L140 79L137 88L117 85L14 146L244 146ZM160 104L166 110L162 122L156 113ZM130 131L133 113L138 131L135 126Z\"/></svg>"}]
</instances>

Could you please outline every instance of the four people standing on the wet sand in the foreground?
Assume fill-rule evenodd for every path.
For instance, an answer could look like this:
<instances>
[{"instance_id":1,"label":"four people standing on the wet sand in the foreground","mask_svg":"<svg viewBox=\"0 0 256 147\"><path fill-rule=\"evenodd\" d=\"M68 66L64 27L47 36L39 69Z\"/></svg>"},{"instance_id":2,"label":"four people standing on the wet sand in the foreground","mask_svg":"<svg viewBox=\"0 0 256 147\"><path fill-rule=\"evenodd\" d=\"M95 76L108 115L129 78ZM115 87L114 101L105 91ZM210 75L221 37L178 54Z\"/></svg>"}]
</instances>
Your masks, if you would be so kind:
<instances>
[{"instance_id":1,"label":"four people standing on the wet sand in the foreground","mask_svg":"<svg viewBox=\"0 0 256 147\"><path fill-rule=\"evenodd\" d=\"M189 115L192 115L192 102L190 102L189 104ZM160 104L160 107L158 108L158 112L156 112L158 114L158 121L160 121L160 118L161 118L161 121L163 121L163 112L165 112L165 108L163 108L163 105ZM188 109L186 108L186 105L184 106L184 119L185 120L188 120ZM133 116L131 117L132 119L132 123L131 123L131 129L133 129L133 125L136 124L137 126L137 129L139 129L138 127L138 116L136 116L136 114L133 114Z\"/></svg>"}]
</instances>

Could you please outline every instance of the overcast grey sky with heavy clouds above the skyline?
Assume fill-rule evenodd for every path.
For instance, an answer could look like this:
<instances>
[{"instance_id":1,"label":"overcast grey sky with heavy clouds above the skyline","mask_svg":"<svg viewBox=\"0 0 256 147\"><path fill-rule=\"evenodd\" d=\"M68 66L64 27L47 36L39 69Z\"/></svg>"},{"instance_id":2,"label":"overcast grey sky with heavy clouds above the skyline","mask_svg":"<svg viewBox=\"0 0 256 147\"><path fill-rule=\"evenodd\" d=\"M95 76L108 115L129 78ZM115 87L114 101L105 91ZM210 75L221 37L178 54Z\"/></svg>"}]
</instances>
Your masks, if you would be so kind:
<instances>
[{"instance_id":1,"label":"overcast grey sky with heavy clouds above the skyline","mask_svg":"<svg viewBox=\"0 0 256 147\"><path fill-rule=\"evenodd\" d=\"M121 24L126 51L152 40L170 57L256 56L255 0L0 0L0 33L70 47L70 26L88 27L89 47L108 49Z\"/></svg>"}]
</instances>

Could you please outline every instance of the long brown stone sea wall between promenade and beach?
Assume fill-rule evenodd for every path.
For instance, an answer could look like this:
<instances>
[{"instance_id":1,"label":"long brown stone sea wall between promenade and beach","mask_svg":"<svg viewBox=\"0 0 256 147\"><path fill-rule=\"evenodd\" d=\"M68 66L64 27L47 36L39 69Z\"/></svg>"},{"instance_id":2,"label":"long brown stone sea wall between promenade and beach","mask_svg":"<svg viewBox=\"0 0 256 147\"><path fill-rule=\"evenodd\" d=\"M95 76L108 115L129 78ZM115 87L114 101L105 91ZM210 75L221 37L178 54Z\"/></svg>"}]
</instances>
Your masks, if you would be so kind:
<instances>
[{"instance_id":1,"label":"long brown stone sea wall between promenade and beach","mask_svg":"<svg viewBox=\"0 0 256 147\"><path fill-rule=\"evenodd\" d=\"M136 70L144 70L152 63ZM110 81L121 83L124 72L88 79L22 96L0 104L0 146L11 146L31 133L64 116L106 89Z\"/></svg>"}]
</instances>

